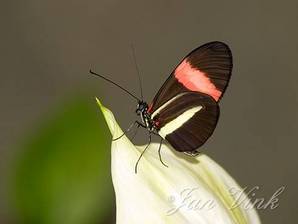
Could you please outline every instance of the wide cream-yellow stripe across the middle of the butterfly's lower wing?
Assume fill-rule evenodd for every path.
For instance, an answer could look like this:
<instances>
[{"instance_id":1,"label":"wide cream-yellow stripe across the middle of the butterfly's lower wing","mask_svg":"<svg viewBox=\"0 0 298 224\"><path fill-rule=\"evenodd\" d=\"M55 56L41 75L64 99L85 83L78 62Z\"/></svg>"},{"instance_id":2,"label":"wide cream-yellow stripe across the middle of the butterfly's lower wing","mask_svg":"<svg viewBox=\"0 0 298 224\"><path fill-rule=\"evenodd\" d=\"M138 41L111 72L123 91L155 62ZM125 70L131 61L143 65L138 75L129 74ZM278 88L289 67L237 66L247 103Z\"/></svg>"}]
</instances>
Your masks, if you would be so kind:
<instances>
[{"instance_id":1,"label":"wide cream-yellow stripe across the middle of the butterfly's lower wing","mask_svg":"<svg viewBox=\"0 0 298 224\"><path fill-rule=\"evenodd\" d=\"M165 138L168 134L171 134L173 131L180 128L185 122L191 119L195 115L195 113L200 111L202 108L202 106L197 106L185 111L184 113L176 117L174 120L170 121L165 126L163 126L158 133L161 137Z\"/></svg>"}]
</instances>

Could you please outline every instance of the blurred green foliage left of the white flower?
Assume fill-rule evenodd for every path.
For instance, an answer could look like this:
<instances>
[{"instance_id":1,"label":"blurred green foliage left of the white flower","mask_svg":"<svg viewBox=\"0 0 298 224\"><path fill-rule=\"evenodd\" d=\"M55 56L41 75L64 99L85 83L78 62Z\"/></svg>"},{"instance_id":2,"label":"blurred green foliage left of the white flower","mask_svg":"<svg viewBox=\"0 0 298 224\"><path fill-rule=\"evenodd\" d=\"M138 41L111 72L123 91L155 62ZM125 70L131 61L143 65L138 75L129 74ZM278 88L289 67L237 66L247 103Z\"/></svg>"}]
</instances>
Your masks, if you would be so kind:
<instances>
[{"instance_id":1,"label":"blurred green foliage left of the white flower","mask_svg":"<svg viewBox=\"0 0 298 224\"><path fill-rule=\"evenodd\" d=\"M24 224L109 223L109 131L95 100L62 104L21 145L11 193Z\"/></svg>"}]
</instances>

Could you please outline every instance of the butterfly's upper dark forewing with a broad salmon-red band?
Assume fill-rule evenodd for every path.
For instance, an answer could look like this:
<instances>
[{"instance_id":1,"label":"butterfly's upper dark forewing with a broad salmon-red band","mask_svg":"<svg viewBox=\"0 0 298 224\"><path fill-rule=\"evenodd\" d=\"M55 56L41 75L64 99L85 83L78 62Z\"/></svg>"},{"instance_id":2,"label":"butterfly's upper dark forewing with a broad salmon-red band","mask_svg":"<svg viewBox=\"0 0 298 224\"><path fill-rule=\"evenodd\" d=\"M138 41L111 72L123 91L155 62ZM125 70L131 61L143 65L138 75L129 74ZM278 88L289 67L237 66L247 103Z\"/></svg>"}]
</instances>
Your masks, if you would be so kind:
<instances>
[{"instance_id":1,"label":"butterfly's upper dark forewing with a broad salmon-red band","mask_svg":"<svg viewBox=\"0 0 298 224\"><path fill-rule=\"evenodd\" d=\"M222 42L210 42L190 52L162 85L151 104L153 113L164 103L186 91L196 91L219 101L232 71L232 53Z\"/></svg>"}]
</instances>

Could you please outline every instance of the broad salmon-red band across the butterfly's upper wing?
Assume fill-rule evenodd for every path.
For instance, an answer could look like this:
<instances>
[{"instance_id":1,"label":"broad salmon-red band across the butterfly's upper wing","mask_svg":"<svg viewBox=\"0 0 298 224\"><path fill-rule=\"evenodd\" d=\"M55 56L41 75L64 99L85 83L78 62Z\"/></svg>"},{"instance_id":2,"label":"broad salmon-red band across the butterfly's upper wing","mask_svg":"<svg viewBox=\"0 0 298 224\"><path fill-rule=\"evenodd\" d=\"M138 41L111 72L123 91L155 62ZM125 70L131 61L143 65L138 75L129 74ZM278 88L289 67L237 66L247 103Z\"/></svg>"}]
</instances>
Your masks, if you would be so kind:
<instances>
[{"instance_id":1,"label":"broad salmon-red band across the butterfly's upper wing","mask_svg":"<svg viewBox=\"0 0 298 224\"><path fill-rule=\"evenodd\" d=\"M216 101L221 96L222 92L216 88L207 74L197 68L193 68L186 59L176 68L174 74L177 80L191 91L208 94Z\"/></svg>"}]
</instances>

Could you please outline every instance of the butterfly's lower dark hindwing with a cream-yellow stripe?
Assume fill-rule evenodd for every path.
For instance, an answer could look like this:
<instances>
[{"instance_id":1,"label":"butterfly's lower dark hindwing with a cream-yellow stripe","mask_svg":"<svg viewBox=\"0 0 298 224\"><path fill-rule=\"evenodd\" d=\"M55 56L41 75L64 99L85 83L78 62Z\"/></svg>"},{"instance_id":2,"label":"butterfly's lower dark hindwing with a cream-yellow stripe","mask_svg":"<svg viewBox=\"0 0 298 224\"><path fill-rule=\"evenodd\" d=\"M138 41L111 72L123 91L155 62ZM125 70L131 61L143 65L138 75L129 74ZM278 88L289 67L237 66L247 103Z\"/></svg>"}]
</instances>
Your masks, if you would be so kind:
<instances>
[{"instance_id":1,"label":"butterfly's lower dark hindwing with a cream-yellow stripe","mask_svg":"<svg viewBox=\"0 0 298 224\"><path fill-rule=\"evenodd\" d=\"M203 145L218 117L217 102L199 92L180 93L151 115L159 135L180 152L193 152Z\"/></svg>"}]
</instances>

